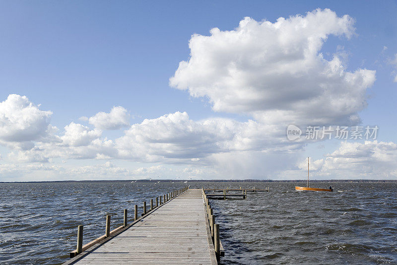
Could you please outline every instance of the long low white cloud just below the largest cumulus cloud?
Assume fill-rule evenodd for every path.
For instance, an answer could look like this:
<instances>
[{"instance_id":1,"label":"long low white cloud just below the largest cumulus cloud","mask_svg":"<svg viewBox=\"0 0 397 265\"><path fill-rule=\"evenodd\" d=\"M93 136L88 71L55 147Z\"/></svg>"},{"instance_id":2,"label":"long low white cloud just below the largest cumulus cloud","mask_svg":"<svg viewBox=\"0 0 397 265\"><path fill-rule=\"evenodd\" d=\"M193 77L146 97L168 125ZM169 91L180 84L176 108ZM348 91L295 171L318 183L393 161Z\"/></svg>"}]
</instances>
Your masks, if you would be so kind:
<instances>
[{"instance_id":1,"label":"long low white cloud just below the largest cumulus cloud","mask_svg":"<svg viewBox=\"0 0 397 265\"><path fill-rule=\"evenodd\" d=\"M124 159L191 163L216 153L283 148L286 137L277 134L272 126L253 120L193 121L186 112L175 112L132 125L116 139L115 148Z\"/></svg>"}]
</instances>

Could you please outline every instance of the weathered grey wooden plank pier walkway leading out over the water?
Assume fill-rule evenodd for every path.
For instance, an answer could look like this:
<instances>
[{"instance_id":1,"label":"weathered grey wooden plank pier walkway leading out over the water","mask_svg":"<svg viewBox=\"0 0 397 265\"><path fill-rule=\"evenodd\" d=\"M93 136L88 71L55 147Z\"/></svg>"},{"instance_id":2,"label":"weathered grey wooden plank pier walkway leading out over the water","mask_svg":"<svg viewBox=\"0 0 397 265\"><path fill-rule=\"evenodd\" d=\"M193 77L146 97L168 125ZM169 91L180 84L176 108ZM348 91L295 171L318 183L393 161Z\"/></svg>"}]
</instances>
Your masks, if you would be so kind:
<instances>
[{"instance_id":1,"label":"weathered grey wooden plank pier walkway leading out over the water","mask_svg":"<svg viewBox=\"0 0 397 265\"><path fill-rule=\"evenodd\" d=\"M109 232L64 265L217 264L202 193L202 189L185 189L163 204L160 199L159 207L113 235ZM216 229L219 242L218 225Z\"/></svg>"}]
</instances>

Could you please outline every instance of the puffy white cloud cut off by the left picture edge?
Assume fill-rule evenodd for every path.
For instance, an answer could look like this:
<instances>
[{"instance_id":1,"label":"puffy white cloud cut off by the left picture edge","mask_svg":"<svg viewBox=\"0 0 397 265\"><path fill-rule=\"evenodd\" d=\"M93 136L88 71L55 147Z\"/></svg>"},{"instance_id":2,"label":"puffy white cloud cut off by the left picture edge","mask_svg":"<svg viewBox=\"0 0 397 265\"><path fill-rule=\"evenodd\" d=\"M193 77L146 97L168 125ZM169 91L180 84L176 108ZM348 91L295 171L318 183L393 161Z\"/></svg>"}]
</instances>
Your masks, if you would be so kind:
<instances>
[{"instance_id":1,"label":"puffy white cloud cut off by the left picture edge","mask_svg":"<svg viewBox=\"0 0 397 265\"><path fill-rule=\"evenodd\" d=\"M48 136L52 112L40 110L26 96L8 95L0 102L0 143L26 149Z\"/></svg>"}]
</instances>

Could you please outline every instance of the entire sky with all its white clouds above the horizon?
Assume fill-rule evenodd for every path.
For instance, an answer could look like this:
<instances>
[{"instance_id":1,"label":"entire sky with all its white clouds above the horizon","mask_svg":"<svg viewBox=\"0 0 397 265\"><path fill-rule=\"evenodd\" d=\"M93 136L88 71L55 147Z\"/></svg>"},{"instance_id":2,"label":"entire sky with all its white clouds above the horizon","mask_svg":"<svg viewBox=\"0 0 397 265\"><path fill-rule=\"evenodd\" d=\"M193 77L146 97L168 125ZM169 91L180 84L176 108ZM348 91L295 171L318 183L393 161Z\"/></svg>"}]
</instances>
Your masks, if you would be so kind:
<instances>
[{"instance_id":1,"label":"entire sky with all its white clouds above the horizon","mask_svg":"<svg viewBox=\"0 0 397 265\"><path fill-rule=\"evenodd\" d=\"M0 1L0 181L397 179L397 1Z\"/></svg>"}]
</instances>

